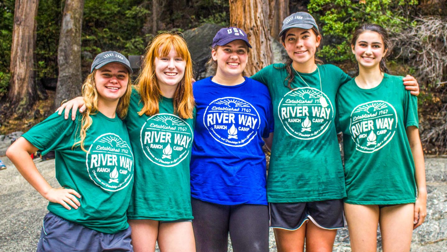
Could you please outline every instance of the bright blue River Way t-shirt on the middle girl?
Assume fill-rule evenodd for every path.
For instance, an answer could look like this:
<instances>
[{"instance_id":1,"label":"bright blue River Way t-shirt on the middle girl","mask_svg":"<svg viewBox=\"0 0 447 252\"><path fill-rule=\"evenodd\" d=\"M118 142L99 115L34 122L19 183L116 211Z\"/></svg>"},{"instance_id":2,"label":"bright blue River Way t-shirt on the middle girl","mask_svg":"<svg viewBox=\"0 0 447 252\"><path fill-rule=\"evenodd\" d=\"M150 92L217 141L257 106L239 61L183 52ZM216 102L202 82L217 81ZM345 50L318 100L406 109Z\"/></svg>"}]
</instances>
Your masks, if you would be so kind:
<instances>
[{"instance_id":1,"label":"bright blue River Way t-shirt on the middle girl","mask_svg":"<svg viewBox=\"0 0 447 252\"><path fill-rule=\"evenodd\" d=\"M197 116L191 154L191 196L215 204L267 205L264 141L273 132L266 85L250 78L193 85Z\"/></svg>"}]
</instances>

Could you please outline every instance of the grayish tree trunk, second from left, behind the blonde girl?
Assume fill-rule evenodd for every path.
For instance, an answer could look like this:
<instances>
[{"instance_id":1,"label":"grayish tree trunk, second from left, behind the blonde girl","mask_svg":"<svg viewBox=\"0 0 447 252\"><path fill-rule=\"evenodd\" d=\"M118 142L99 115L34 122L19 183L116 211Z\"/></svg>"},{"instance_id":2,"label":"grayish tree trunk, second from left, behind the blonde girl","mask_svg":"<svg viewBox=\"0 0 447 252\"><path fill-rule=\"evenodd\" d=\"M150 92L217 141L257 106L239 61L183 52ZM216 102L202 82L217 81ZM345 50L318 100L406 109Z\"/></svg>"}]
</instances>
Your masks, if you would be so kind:
<instances>
[{"instance_id":1,"label":"grayish tree trunk, second from left, behind the blonde girl","mask_svg":"<svg viewBox=\"0 0 447 252\"><path fill-rule=\"evenodd\" d=\"M54 107L81 94L81 28L84 0L65 0L59 34L57 80Z\"/></svg>"}]
</instances>

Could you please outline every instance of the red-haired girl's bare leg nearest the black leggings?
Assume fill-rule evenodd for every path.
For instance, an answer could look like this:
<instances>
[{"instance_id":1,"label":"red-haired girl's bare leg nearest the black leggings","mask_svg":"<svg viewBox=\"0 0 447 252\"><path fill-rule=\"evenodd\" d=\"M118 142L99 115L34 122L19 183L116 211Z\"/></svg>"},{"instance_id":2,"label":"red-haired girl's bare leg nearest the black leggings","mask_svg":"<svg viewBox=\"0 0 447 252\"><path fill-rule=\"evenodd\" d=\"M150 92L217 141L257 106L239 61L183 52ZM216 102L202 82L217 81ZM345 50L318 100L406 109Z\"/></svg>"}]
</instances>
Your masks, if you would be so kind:
<instances>
[{"instance_id":1,"label":"red-haired girl's bare leg nearest the black leggings","mask_svg":"<svg viewBox=\"0 0 447 252\"><path fill-rule=\"evenodd\" d=\"M161 252L195 252L191 222L160 222L158 247Z\"/></svg>"}]
</instances>

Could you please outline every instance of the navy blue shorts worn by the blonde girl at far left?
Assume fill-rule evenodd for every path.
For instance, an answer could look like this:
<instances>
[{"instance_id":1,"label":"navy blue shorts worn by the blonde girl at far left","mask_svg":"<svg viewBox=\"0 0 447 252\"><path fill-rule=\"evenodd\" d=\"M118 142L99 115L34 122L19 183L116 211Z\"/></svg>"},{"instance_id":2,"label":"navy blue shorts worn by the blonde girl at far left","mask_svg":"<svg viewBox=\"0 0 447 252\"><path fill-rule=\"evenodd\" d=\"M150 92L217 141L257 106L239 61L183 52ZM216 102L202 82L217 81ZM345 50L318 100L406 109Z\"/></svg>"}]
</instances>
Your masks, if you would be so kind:
<instances>
[{"instance_id":1,"label":"navy blue shorts worn by the blonde girl at far left","mask_svg":"<svg viewBox=\"0 0 447 252\"><path fill-rule=\"evenodd\" d=\"M131 227L116 234L95 231L48 213L43 218L37 252L133 252Z\"/></svg>"}]
</instances>

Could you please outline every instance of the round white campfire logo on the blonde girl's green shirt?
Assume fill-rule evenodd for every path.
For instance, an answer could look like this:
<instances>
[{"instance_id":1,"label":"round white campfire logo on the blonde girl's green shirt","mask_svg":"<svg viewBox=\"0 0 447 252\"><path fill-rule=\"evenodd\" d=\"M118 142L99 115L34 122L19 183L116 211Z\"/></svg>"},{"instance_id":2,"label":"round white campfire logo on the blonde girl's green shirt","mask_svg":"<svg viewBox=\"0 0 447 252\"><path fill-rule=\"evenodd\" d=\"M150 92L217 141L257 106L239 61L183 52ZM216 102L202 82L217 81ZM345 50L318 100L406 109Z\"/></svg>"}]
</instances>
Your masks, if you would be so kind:
<instances>
[{"instance_id":1,"label":"round white campfire logo on the blonde girl's green shirt","mask_svg":"<svg viewBox=\"0 0 447 252\"><path fill-rule=\"evenodd\" d=\"M103 134L93 141L85 165L90 179L106 191L126 188L134 175L131 148L114 133Z\"/></svg>"}]
</instances>

